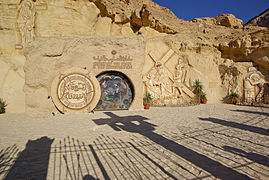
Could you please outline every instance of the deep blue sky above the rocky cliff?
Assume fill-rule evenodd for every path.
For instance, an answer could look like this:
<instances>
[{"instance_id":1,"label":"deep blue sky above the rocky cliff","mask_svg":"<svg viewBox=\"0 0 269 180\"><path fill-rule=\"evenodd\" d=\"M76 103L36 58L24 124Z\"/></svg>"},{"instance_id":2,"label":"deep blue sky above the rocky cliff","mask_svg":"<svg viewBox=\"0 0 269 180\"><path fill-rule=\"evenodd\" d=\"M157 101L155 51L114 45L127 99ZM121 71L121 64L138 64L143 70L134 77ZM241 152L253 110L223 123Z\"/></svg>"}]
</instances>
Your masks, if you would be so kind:
<instances>
[{"instance_id":1,"label":"deep blue sky above the rocky cliff","mask_svg":"<svg viewBox=\"0 0 269 180\"><path fill-rule=\"evenodd\" d=\"M167 7L178 18L190 21L199 17L233 14L247 23L269 8L269 0L153 0Z\"/></svg>"}]
</instances>

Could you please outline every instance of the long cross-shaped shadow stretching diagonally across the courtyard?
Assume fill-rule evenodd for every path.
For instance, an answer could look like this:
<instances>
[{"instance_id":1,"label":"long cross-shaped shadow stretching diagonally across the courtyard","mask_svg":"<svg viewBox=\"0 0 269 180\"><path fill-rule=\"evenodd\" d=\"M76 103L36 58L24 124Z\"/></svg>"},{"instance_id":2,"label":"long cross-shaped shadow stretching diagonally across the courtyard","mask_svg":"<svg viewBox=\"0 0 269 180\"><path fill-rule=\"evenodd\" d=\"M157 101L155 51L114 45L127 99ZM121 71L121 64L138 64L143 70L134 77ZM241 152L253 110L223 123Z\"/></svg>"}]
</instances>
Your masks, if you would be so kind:
<instances>
[{"instance_id":1,"label":"long cross-shaped shadow stretching diagonally across the courtyard","mask_svg":"<svg viewBox=\"0 0 269 180\"><path fill-rule=\"evenodd\" d=\"M241 174L223 164L197 153L192 149L186 148L170 139L167 139L155 132L156 125L147 122L143 116L119 117L111 112L105 112L110 118L101 118L93 120L97 125L109 125L116 131L127 131L138 133L147 137L151 141L165 149L175 153L177 156L191 162L192 164L209 172L220 179L250 179L247 175Z\"/></svg>"}]
</instances>

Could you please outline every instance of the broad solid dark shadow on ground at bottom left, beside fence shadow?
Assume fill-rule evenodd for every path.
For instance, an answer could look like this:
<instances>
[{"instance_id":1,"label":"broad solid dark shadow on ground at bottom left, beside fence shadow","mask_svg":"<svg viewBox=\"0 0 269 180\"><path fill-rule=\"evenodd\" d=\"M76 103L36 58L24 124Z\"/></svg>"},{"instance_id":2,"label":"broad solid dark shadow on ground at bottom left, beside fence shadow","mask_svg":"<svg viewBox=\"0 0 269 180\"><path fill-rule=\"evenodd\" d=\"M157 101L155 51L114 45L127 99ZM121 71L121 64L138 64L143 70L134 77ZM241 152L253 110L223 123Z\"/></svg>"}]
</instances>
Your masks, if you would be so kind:
<instances>
[{"instance_id":1,"label":"broad solid dark shadow on ground at bottom left, beside fence shadow","mask_svg":"<svg viewBox=\"0 0 269 180\"><path fill-rule=\"evenodd\" d=\"M19 153L5 179L46 179L50 147L53 140L48 137L29 140L26 148Z\"/></svg>"}]
</instances>

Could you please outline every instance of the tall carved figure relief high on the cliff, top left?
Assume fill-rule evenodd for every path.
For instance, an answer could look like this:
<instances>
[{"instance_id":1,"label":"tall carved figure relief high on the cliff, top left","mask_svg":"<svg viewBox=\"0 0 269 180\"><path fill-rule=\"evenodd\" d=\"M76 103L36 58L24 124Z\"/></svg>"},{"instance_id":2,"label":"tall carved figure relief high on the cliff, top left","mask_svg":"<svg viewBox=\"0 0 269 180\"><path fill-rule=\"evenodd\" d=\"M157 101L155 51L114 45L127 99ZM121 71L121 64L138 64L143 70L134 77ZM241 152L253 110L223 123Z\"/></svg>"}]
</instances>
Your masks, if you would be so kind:
<instances>
[{"instance_id":1,"label":"tall carved figure relief high on the cliff, top left","mask_svg":"<svg viewBox=\"0 0 269 180\"><path fill-rule=\"evenodd\" d=\"M21 35L21 43L23 46L28 42L34 40L34 26L35 26L35 8L31 0L23 1L18 12L18 29Z\"/></svg>"}]
</instances>

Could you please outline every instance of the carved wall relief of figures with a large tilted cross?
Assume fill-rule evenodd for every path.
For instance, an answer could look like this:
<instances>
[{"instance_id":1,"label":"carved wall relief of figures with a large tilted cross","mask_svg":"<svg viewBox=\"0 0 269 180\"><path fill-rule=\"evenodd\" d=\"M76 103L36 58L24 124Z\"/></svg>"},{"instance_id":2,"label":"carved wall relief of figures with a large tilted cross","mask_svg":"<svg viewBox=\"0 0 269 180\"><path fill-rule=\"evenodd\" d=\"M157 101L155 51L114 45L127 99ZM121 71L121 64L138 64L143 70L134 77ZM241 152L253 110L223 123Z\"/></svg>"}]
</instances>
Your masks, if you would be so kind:
<instances>
[{"instance_id":1,"label":"carved wall relief of figures with a large tilted cross","mask_svg":"<svg viewBox=\"0 0 269 180\"><path fill-rule=\"evenodd\" d=\"M143 76L146 91L152 95L154 105L179 105L190 102L194 93L185 85L186 57L175 58L175 52L169 49L162 57L148 56L153 67Z\"/></svg>"}]
</instances>

